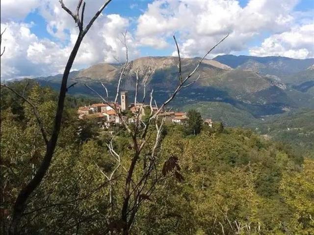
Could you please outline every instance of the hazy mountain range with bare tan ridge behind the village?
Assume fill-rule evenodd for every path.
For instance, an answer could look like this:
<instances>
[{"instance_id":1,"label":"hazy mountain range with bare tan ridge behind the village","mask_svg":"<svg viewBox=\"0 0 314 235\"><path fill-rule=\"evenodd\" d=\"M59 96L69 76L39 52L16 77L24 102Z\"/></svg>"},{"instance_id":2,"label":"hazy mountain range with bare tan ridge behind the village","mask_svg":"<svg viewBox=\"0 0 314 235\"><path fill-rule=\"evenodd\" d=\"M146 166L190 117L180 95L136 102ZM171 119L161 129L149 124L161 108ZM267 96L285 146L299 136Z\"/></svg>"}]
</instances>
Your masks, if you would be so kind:
<instances>
[{"instance_id":1,"label":"hazy mountain range with bare tan ridge behind the village","mask_svg":"<svg viewBox=\"0 0 314 235\"><path fill-rule=\"evenodd\" d=\"M182 59L183 75L196 66L199 58ZM135 73L140 74L154 70L149 81L149 89L154 88L157 102L165 100L178 84L177 57L142 57L131 62L130 70L123 80L123 90L130 91L132 96L135 84ZM205 60L197 71L199 81L180 92L172 104L174 108L184 106L203 107L204 117L215 117L222 113L227 120L228 110L241 113L245 122L252 117L280 114L298 108L314 108L314 59L291 59L287 57L254 57L222 55L212 60ZM78 82L71 88L72 94L92 94L84 83L104 93L103 82L113 95L119 77L120 65L97 64L70 74L69 83ZM42 85L58 88L61 74L40 77L36 80ZM132 98L132 97L130 97ZM212 103L215 102L215 103ZM225 104L224 104L225 103ZM209 107L215 107L210 110ZM227 109L227 110L226 110ZM203 111L204 110L204 111ZM206 111L207 110L207 111ZM243 118L243 115L247 118ZM230 118L229 118L230 119ZM225 121L226 124L238 124ZM246 124L246 123L242 124Z\"/></svg>"}]
</instances>

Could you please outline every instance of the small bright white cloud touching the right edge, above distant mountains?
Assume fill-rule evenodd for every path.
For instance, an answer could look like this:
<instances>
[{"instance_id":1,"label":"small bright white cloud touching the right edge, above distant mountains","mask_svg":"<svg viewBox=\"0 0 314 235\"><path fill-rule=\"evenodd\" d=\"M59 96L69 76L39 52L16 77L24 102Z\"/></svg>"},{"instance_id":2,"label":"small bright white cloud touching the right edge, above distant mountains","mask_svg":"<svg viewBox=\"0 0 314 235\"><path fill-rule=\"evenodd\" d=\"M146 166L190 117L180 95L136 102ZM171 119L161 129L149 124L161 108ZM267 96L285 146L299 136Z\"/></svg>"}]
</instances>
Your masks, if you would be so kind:
<instances>
[{"instance_id":1,"label":"small bright white cloud touching the right edge, above distant mountains","mask_svg":"<svg viewBox=\"0 0 314 235\"><path fill-rule=\"evenodd\" d=\"M254 56L286 56L297 59L313 58L314 24L296 26L289 31L266 38L261 47L250 48Z\"/></svg>"}]
</instances>

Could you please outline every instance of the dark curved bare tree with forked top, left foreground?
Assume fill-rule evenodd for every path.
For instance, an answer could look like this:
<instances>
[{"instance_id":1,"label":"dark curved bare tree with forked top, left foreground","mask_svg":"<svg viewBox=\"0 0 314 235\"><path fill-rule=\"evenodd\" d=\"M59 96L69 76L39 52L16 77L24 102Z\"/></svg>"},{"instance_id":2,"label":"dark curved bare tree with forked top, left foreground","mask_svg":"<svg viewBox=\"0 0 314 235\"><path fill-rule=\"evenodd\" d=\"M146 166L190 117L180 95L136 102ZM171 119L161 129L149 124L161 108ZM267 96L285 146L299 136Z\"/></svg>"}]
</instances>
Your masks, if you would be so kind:
<instances>
[{"instance_id":1,"label":"dark curved bare tree with forked top, left foreground","mask_svg":"<svg viewBox=\"0 0 314 235\"><path fill-rule=\"evenodd\" d=\"M58 104L57 104L57 110L54 118L54 124L52 128L52 134L51 137L48 137L48 134L45 131L45 128L40 120L40 117L38 115L36 106L33 105L23 94L18 94L16 91L14 91L12 88L8 87L5 84L1 84L1 86L8 88L15 94L19 95L21 98L23 98L29 105L32 106L34 115L36 117L36 120L38 122L38 125L41 129L42 137L46 143L46 153L45 156L37 169L34 177L24 186L21 191L19 192L19 195L14 203L13 207L13 214L12 214L12 220L9 228L9 234L18 234L19 233L19 225L21 218L23 216L23 212L25 211L26 208L26 202L31 193L40 185L42 182L49 166L52 160L53 152L56 146L56 142L58 140L59 132L60 132L60 127L61 127L61 120L62 120L62 114L63 114L63 109L64 109L64 100L65 100L65 95L67 93L67 82L68 82L68 77L70 70L72 68L73 62L76 58L76 55L78 53L78 48L80 47L80 44L85 36L85 34L88 32L92 24L95 22L95 20L99 17L99 15L102 13L104 8L108 5L108 3L111 0L106 0L104 4L99 8L99 10L95 13L93 18L90 20L90 22L86 25L84 28L83 22L84 22L84 10L85 10L85 1L83 0L78 0L78 5L76 8L76 12L71 11L69 8L67 8L62 0L59 0L61 7L69 14L72 16L74 19L75 23L78 26L79 33L77 40L75 42L75 45L71 51L71 54L68 58L67 64L65 66L63 76L62 76L62 81L61 81L61 88L60 88L60 93L58 97ZM83 4L82 4L83 3ZM2 37L2 33L1 33ZM3 50L4 52L4 50ZM1 53L1 55L3 54ZM72 86L72 85L71 85ZM70 87L71 87L70 86Z\"/></svg>"}]
</instances>

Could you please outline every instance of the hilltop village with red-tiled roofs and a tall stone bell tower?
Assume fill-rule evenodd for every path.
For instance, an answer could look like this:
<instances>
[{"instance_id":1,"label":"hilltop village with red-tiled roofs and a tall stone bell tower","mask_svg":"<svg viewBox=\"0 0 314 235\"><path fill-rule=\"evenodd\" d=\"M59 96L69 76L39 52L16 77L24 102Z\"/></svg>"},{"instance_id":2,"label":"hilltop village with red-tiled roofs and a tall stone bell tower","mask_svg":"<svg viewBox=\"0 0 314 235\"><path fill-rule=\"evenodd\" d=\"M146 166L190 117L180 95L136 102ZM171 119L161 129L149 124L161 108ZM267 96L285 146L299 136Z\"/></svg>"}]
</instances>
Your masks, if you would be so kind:
<instances>
[{"instance_id":1,"label":"hilltop village with red-tiled roofs and a tall stone bell tower","mask_svg":"<svg viewBox=\"0 0 314 235\"><path fill-rule=\"evenodd\" d=\"M110 104L110 105L109 105ZM121 92L121 103L114 104L109 103L95 103L89 106L83 106L78 108L78 118L79 119L94 119L97 121L98 126L101 128L109 128L110 126L114 126L116 124L122 124L121 118L123 118L128 123L134 122L136 118L138 110L141 109L141 113L139 114L139 119L143 119L145 116L145 110L151 109L150 105L142 104L142 103L131 103L129 105L128 100L128 92ZM116 113L116 111L112 107L116 107L116 111L120 112L120 117ZM153 112L157 112L157 107L153 107ZM164 117L165 121L172 122L179 125L186 124L188 120L187 114L184 112L160 112L159 116ZM212 120L206 119L204 121L205 124L212 127Z\"/></svg>"}]
</instances>

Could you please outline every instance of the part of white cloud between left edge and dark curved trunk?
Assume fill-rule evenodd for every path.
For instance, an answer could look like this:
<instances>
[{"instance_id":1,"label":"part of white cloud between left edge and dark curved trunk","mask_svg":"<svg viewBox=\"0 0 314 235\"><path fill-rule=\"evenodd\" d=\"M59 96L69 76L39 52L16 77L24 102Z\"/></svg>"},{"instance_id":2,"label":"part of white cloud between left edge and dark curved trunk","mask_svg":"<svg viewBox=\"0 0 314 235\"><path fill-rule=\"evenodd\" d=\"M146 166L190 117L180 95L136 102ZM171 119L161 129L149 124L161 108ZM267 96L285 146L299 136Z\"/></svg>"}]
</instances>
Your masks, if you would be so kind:
<instances>
[{"instance_id":1,"label":"part of white cloud between left edge and dark curved trunk","mask_svg":"<svg viewBox=\"0 0 314 235\"><path fill-rule=\"evenodd\" d=\"M66 60L66 48L31 33L31 24L5 23L1 57L1 79L56 73Z\"/></svg>"}]
</instances>

